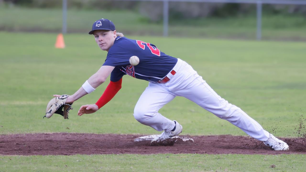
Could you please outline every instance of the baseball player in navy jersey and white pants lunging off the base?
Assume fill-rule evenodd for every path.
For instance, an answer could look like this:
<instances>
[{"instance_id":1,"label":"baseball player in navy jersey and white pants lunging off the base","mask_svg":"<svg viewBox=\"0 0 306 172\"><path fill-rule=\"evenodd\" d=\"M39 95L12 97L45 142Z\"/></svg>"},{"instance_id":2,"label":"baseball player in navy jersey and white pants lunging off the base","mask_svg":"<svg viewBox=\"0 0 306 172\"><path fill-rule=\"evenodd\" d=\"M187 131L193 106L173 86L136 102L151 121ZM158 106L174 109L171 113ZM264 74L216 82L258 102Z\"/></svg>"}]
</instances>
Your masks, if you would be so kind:
<instances>
[{"instance_id":1,"label":"baseball player in navy jersey and white pants lunging off the base","mask_svg":"<svg viewBox=\"0 0 306 172\"><path fill-rule=\"evenodd\" d=\"M134 117L141 124L157 131L163 131L154 141L162 141L182 132L182 125L159 113L159 109L176 96L183 96L221 119L239 127L248 135L263 141L274 150L288 150L289 146L265 131L254 119L239 107L222 99L190 65L181 59L171 57L160 51L152 43L128 39L115 30L113 22L99 19L92 25L89 34L94 35L101 50L108 52L102 67L93 74L82 87L67 98L73 103L95 90L110 75L110 83L95 104L80 107L78 115L94 113L108 103L120 90L122 77L149 81L148 87L140 96ZM129 58L139 57L138 65L131 65ZM54 95L60 96L60 95Z\"/></svg>"}]
</instances>

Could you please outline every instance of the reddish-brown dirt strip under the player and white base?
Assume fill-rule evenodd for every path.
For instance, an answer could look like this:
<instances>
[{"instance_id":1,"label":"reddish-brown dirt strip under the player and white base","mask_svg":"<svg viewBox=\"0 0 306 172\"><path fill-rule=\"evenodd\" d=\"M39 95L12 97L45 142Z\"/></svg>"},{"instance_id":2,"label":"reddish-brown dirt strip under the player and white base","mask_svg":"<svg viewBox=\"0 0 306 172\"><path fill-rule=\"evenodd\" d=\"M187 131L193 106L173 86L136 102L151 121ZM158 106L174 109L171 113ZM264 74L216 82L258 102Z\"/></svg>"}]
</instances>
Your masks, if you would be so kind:
<instances>
[{"instance_id":1,"label":"reddish-brown dirt strip under the player and white base","mask_svg":"<svg viewBox=\"0 0 306 172\"><path fill-rule=\"evenodd\" d=\"M75 154L306 154L306 138L282 138L288 151L273 151L261 141L246 136L187 136L192 142L177 141L173 146L146 146L134 142L143 135L46 133L0 135L2 155Z\"/></svg>"}]
</instances>

